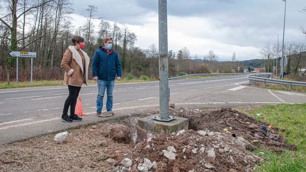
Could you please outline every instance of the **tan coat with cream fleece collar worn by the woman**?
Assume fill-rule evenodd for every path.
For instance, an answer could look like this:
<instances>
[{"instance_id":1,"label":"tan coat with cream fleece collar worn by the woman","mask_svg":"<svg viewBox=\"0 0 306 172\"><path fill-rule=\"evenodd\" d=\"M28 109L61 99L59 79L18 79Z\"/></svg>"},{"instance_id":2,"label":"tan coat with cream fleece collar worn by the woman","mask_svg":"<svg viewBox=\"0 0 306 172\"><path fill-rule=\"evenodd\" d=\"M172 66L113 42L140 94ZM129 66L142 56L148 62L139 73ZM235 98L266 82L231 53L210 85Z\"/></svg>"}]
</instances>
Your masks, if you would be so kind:
<instances>
[{"instance_id":1,"label":"tan coat with cream fleece collar worn by the woman","mask_svg":"<svg viewBox=\"0 0 306 172\"><path fill-rule=\"evenodd\" d=\"M85 69L83 69L82 58L85 58ZM69 46L63 55L61 68L65 70L64 84L71 86L87 85L89 57L86 52Z\"/></svg>"}]
</instances>

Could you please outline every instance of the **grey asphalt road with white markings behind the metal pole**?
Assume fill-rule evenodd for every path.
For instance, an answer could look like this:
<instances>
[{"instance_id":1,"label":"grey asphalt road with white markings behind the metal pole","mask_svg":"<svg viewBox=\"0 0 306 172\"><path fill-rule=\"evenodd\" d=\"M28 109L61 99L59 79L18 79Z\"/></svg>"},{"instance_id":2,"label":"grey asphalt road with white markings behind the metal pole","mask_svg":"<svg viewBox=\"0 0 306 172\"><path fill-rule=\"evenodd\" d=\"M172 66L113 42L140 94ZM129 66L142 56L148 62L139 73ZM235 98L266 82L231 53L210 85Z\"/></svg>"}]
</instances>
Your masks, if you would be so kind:
<instances>
[{"instance_id":1,"label":"grey asphalt road with white markings behind the metal pole","mask_svg":"<svg viewBox=\"0 0 306 172\"><path fill-rule=\"evenodd\" d=\"M169 81L176 107L232 107L254 104L306 103L306 94L249 87L247 76ZM96 117L98 87L82 86L82 121L60 120L67 86L40 86L0 90L0 144L65 130L110 118L159 110L159 82L115 84L110 118ZM106 94L106 93L105 93ZM106 95L104 96L105 110Z\"/></svg>"}]
</instances>

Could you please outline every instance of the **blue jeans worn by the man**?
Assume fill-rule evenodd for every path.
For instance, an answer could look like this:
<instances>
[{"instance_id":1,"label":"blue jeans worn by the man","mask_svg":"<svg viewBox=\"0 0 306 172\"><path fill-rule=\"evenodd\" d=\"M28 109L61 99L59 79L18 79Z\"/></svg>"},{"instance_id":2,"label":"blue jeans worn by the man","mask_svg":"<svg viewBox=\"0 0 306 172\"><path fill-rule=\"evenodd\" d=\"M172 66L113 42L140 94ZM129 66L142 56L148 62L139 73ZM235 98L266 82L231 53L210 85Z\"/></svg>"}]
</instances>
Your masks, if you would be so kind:
<instances>
[{"instance_id":1,"label":"blue jeans worn by the man","mask_svg":"<svg viewBox=\"0 0 306 172\"><path fill-rule=\"evenodd\" d=\"M115 86L115 80L98 80L98 97L97 97L97 112L100 112L103 107L103 97L106 88L106 110L111 111L113 108L113 90Z\"/></svg>"}]
</instances>

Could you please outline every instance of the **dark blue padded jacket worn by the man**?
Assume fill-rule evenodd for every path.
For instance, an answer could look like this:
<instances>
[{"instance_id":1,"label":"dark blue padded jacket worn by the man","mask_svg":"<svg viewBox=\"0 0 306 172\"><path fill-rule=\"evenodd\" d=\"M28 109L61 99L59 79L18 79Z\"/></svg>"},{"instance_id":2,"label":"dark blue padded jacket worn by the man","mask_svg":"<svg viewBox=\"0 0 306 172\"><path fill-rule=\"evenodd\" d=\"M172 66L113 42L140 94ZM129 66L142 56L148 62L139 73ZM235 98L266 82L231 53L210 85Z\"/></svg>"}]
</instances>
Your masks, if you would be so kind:
<instances>
[{"instance_id":1,"label":"dark blue padded jacket worn by the man","mask_svg":"<svg viewBox=\"0 0 306 172\"><path fill-rule=\"evenodd\" d=\"M114 80L121 77L121 63L118 52L111 48L108 52L104 45L96 50L92 59L92 77L98 77L99 80Z\"/></svg>"}]
</instances>

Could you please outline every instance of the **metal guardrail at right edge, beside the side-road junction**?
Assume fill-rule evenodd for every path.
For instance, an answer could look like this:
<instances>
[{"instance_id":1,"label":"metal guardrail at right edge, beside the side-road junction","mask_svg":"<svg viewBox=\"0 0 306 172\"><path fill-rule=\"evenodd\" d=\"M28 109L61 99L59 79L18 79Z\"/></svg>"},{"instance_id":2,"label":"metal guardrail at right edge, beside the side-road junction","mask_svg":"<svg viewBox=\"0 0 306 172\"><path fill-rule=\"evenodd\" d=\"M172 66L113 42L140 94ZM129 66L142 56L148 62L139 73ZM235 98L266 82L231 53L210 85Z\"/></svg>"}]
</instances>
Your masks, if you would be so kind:
<instances>
[{"instance_id":1,"label":"metal guardrail at right edge, beside the side-road junction","mask_svg":"<svg viewBox=\"0 0 306 172\"><path fill-rule=\"evenodd\" d=\"M251 74L248 75L249 84L253 86L253 83L256 81L266 82L270 83L276 83L276 84L282 84L282 85L289 85L289 90L291 89L291 86L306 86L306 82L297 82L297 81L285 81L280 79L271 79L272 73L258 73L258 74Z\"/></svg>"}]
</instances>

